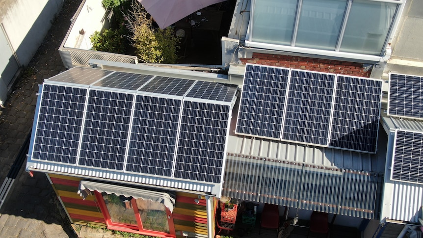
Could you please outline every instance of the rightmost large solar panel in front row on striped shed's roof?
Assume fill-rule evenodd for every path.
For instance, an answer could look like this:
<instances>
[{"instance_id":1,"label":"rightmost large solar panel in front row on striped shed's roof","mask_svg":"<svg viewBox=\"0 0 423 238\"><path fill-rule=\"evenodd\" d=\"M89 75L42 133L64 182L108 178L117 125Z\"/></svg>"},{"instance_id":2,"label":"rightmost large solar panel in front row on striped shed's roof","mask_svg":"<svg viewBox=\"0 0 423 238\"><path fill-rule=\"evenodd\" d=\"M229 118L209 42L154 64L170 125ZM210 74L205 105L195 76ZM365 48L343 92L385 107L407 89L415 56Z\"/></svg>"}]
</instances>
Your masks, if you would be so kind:
<instances>
[{"instance_id":1,"label":"rightmost large solar panel in front row on striped shed's roof","mask_svg":"<svg viewBox=\"0 0 423 238\"><path fill-rule=\"evenodd\" d=\"M174 177L220 183L230 106L183 104Z\"/></svg>"}]
</instances>

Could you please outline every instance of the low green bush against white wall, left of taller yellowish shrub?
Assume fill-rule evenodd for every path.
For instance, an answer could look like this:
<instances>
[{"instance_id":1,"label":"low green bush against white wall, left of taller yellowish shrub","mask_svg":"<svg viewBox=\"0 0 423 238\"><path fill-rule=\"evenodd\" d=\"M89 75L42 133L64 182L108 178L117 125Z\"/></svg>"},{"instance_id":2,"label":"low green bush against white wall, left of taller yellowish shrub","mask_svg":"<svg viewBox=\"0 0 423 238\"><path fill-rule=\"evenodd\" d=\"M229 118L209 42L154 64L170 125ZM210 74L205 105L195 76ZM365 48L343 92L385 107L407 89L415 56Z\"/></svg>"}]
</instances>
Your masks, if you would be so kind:
<instances>
[{"instance_id":1,"label":"low green bush against white wall, left of taller yellowish shrub","mask_svg":"<svg viewBox=\"0 0 423 238\"><path fill-rule=\"evenodd\" d=\"M110 53L125 53L125 37L121 29L106 29L103 32L95 31L90 36L93 43L92 50Z\"/></svg>"}]
</instances>

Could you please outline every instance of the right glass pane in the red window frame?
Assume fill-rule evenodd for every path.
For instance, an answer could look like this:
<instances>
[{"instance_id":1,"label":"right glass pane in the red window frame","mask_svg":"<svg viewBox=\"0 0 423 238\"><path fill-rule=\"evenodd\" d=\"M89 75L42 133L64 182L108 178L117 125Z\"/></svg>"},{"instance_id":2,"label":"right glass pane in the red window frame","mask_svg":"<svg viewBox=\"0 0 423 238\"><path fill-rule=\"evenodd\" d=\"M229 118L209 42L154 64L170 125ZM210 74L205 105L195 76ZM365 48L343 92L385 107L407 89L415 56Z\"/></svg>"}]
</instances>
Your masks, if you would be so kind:
<instances>
[{"instance_id":1,"label":"right glass pane in the red window frame","mask_svg":"<svg viewBox=\"0 0 423 238\"><path fill-rule=\"evenodd\" d=\"M163 204L141 198L135 201L144 230L169 233L166 207Z\"/></svg>"}]
</instances>

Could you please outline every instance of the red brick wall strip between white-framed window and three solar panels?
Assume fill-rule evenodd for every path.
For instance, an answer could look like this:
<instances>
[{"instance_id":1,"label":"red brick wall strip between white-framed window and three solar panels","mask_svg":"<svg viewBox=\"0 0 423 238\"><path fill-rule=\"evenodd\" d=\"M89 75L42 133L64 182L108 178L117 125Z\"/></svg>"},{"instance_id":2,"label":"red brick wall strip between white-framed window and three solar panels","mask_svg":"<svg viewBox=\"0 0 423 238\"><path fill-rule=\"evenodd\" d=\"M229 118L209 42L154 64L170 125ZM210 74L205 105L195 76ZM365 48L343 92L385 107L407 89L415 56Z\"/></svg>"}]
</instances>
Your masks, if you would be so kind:
<instances>
[{"instance_id":1,"label":"red brick wall strip between white-framed window and three solar panels","mask_svg":"<svg viewBox=\"0 0 423 238\"><path fill-rule=\"evenodd\" d=\"M290 55L253 53L252 58L241 58L242 64L252 63L287 67L293 69L313 70L334 74L370 77L371 70L365 72L362 63L353 63L340 60L316 59Z\"/></svg>"}]
</instances>

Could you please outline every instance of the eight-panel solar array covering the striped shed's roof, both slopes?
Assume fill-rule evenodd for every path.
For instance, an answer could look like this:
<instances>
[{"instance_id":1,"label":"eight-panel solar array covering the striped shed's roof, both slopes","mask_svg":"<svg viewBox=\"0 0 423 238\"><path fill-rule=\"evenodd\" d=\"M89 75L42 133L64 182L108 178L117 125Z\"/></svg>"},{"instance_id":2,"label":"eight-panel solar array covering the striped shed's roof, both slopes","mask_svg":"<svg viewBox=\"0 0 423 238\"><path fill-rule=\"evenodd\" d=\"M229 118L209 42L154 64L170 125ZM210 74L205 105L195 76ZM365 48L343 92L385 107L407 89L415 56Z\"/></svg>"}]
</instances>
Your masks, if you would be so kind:
<instances>
[{"instance_id":1,"label":"eight-panel solar array covering the striped shed's roof, both slopes","mask_svg":"<svg viewBox=\"0 0 423 238\"><path fill-rule=\"evenodd\" d=\"M31 160L222 182L237 86L89 68L63 74L74 71L43 85ZM96 78L83 84L81 72ZM204 85L212 93L201 93Z\"/></svg>"}]
</instances>

